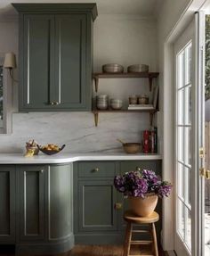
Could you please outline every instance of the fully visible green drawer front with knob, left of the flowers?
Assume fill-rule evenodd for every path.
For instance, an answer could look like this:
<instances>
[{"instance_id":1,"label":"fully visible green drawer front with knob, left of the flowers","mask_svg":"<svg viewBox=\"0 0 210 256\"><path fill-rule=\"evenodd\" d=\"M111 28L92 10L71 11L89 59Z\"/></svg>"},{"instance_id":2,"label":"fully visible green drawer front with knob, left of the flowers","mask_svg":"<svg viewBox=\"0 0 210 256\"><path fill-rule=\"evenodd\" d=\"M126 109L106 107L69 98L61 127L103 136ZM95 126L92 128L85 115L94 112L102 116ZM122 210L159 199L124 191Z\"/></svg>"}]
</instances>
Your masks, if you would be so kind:
<instances>
[{"instance_id":1,"label":"fully visible green drawer front with knob, left of the flowers","mask_svg":"<svg viewBox=\"0 0 210 256\"><path fill-rule=\"evenodd\" d=\"M78 163L79 178L113 178L115 174L114 161L82 161Z\"/></svg>"}]
</instances>

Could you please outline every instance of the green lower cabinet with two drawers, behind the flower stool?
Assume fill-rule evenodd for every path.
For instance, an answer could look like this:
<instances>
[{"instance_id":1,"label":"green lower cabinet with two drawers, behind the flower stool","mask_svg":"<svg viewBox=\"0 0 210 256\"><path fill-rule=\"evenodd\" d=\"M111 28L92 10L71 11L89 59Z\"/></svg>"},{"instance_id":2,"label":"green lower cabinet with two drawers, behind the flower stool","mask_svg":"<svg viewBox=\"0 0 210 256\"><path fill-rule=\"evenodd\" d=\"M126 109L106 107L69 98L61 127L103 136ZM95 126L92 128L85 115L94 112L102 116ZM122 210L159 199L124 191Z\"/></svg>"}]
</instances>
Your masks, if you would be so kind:
<instances>
[{"instance_id":1,"label":"green lower cabinet with two drawers, behind the flower stool","mask_svg":"<svg viewBox=\"0 0 210 256\"><path fill-rule=\"evenodd\" d=\"M122 244L125 240L124 212L127 199L117 192L115 175L152 169L161 174L161 161L81 161L74 164L74 234L76 244ZM158 241L161 201L156 211Z\"/></svg>"}]
</instances>

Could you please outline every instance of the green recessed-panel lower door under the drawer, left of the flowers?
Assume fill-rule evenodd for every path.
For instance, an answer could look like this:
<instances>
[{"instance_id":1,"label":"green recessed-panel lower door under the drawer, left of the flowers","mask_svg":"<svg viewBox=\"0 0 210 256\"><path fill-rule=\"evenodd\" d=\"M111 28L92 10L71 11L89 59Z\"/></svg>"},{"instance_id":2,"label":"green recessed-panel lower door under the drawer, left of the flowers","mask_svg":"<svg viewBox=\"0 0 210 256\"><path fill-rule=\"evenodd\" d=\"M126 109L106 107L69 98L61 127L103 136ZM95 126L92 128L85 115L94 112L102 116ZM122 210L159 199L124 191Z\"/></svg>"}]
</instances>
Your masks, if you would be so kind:
<instances>
[{"instance_id":1,"label":"green recessed-panel lower door under the drawer, left of the flowers","mask_svg":"<svg viewBox=\"0 0 210 256\"><path fill-rule=\"evenodd\" d=\"M117 230L117 200L112 180L79 181L79 231Z\"/></svg>"}]
</instances>

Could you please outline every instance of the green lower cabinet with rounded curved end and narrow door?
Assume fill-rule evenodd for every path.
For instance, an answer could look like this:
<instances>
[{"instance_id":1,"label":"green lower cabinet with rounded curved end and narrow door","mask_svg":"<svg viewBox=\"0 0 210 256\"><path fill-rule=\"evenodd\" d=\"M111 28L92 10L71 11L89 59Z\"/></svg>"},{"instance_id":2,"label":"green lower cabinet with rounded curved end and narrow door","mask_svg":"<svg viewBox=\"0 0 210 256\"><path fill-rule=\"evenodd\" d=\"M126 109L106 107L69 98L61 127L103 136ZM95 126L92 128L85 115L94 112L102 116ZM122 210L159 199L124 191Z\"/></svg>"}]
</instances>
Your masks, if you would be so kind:
<instances>
[{"instance_id":1,"label":"green lower cabinet with rounded curved end and narrow door","mask_svg":"<svg viewBox=\"0 0 210 256\"><path fill-rule=\"evenodd\" d=\"M26 165L17 170L16 253L69 251L74 246L72 165Z\"/></svg>"}]
</instances>

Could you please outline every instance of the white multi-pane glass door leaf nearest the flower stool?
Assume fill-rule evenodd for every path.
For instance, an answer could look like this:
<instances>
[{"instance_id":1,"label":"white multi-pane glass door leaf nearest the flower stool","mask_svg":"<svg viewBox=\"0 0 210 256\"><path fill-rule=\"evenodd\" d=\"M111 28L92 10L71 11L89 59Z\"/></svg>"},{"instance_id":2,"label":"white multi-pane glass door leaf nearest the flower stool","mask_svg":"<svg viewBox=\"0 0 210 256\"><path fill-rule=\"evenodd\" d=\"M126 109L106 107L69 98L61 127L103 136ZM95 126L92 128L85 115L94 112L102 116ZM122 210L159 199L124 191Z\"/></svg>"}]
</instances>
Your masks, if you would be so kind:
<instances>
[{"instance_id":1,"label":"white multi-pane glass door leaf nearest the flower stool","mask_svg":"<svg viewBox=\"0 0 210 256\"><path fill-rule=\"evenodd\" d=\"M196 132L195 21L174 44L175 59L175 252L196 255L197 170L194 157Z\"/></svg>"}]
</instances>

